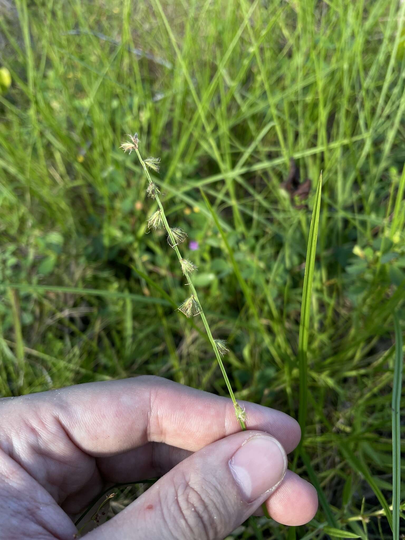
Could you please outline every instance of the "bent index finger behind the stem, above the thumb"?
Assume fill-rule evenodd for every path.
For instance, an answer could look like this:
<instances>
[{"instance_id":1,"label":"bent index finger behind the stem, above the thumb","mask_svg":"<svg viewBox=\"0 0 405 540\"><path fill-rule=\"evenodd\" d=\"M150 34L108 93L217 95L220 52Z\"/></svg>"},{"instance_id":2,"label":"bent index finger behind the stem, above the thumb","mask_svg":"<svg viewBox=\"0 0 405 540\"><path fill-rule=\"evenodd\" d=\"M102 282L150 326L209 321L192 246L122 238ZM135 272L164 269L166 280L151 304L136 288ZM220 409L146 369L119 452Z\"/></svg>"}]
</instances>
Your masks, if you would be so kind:
<instances>
[{"instance_id":1,"label":"bent index finger behind the stem, above the thumb","mask_svg":"<svg viewBox=\"0 0 405 540\"><path fill-rule=\"evenodd\" d=\"M149 375L45 392L31 396L30 407L33 402L48 408L72 442L91 456L115 455L147 442L196 451L240 431L230 399ZM267 431L287 453L298 444L300 428L291 416L240 404L247 429Z\"/></svg>"}]
</instances>

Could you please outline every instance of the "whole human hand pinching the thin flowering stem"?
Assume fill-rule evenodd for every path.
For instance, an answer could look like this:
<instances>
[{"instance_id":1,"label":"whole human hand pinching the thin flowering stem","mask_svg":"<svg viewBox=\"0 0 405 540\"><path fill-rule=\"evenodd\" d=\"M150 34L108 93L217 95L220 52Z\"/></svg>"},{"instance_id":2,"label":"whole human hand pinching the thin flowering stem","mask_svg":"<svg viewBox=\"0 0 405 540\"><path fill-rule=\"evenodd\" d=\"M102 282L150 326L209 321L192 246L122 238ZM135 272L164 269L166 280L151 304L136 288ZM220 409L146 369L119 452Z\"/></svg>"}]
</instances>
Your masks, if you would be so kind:
<instances>
[{"instance_id":1,"label":"whole human hand pinching the thin flowering stem","mask_svg":"<svg viewBox=\"0 0 405 540\"><path fill-rule=\"evenodd\" d=\"M298 423L240 403L248 431L231 400L153 376L0 400L2 539L72 540L69 516L111 483L160 475L85 540L221 540L264 501L306 523L316 491L286 471Z\"/></svg>"}]
</instances>

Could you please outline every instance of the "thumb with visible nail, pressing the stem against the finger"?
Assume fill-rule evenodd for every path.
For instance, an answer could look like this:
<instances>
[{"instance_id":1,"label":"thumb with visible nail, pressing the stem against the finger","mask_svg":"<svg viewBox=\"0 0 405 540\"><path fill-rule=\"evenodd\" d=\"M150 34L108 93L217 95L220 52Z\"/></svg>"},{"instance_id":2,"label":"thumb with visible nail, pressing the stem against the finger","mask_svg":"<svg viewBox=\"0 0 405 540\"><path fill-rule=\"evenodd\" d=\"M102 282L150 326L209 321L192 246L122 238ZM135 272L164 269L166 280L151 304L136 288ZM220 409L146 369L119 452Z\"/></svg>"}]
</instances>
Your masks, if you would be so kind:
<instances>
[{"instance_id":1,"label":"thumb with visible nail, pressing the stem against the finger","mask_svg":"<svg viewBox=\"0 0 405 540\"><path fill-rule=\"evenodd\" d=\"M287 456L274 437L244 431L197 451L86 540L222 540L278 487Z\"/></svg>"}]
</instances>

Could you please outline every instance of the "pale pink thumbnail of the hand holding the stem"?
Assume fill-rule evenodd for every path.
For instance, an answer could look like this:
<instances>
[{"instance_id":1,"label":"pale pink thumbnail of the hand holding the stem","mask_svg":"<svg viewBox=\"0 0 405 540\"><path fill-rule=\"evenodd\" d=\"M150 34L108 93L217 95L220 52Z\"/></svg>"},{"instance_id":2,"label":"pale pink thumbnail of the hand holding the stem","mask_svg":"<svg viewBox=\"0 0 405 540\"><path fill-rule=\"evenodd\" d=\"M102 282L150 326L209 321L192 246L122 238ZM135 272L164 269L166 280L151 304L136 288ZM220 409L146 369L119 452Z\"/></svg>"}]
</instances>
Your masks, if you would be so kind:
<instances>
[{"instance_id":1,"label":"pale pink thumbnail of the hand holding the stem","mask_svg":"<svg viewBox=\"0 0 405 540\"><path fill-rule=\"evenodd\" d=\"M287 456L273 437L254 435L238 448L229 465L246 502L252 502L278 487L286 474Z\"/></svg>"}]
</instances>

